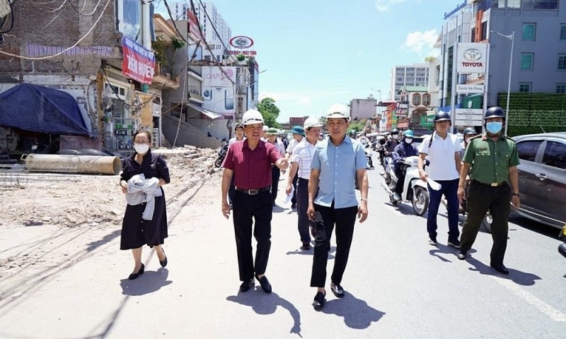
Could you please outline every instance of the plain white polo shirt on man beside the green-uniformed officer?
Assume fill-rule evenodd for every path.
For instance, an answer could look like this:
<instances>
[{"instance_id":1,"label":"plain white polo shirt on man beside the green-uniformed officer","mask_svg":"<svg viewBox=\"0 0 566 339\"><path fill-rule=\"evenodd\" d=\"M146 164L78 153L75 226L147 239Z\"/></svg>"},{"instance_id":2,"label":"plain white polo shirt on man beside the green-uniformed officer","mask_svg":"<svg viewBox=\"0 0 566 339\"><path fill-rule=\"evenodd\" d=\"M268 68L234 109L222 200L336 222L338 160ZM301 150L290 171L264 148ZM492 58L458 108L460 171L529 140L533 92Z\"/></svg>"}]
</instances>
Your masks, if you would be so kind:
<instances>
[{"instance_id":1,"label":"plain white polo shirt on man beside the green-uniformed officer","mask_svg":"<svg viewBox=\"0 0 566 339\"><path fill-rule=\"evenodd\" d=\"M432 144L429 147L430 138L432 138ZM459 153L461 149L462 146L454 134L448 133L444 139L437 132L432 133L432 136L425 136L419 145L419 153L428 155L430 179L458 179L460 174L458 169L456 169L454 153Z\"/></svg>"}]
</instances>

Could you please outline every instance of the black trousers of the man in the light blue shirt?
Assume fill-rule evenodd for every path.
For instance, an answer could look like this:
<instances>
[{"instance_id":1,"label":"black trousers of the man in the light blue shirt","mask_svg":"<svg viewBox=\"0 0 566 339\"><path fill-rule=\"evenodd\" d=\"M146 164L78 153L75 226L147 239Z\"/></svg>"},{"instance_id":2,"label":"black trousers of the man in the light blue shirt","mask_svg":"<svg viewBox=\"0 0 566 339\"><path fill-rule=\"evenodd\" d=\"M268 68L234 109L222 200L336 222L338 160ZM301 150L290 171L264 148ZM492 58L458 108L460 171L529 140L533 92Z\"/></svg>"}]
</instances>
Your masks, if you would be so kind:
<instances>
[{"instance_id":1,"label":"black trousers of the man in the light blue shirt","mask_svg":"<svg viewBox=\"0 0 566 339\"><path fill-rule=\"evenodd\" d=\"M311 287L324 287L326 282L326 262L330 251L330 237L336 226L336 256L330 279L335 284L342 283L346 270L350 246L354 235L354 224L358 206L334 208L316 205L314 229L316 232Z\"/></svg>"}]
</instances>

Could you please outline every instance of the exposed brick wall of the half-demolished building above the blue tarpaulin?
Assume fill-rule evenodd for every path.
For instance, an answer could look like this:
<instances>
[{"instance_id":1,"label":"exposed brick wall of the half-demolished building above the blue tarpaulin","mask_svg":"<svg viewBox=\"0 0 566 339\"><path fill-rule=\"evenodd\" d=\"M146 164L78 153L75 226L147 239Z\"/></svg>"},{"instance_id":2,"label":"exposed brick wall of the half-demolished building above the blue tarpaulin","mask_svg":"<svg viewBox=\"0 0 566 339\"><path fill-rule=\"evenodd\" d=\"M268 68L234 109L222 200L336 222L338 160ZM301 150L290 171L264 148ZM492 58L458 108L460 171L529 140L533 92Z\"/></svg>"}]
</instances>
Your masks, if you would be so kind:
<instances>
[{"instance_id":1,"label":"exposed brick wall of the half-demolished building above the blue tarpaulin","mask_svg":"<svg viewBox=\"0 0 566 339\"><path fill-rule=\"evenodd\" d=\"M71 0L82 8L83 1ZM47 3L47 4L46 4ZM85 12L90 13L98 0L87 0ZM26 55L26 44L71 47L98 19L106 1L100 2L92 16L81 16L68 3L59 8L62 1L16 1L13 6L13 30L5 36L0 50L11 54ZM119 44L120 34L115 30L115 1L106 8L96 28L79 46L108 46ZM25 60L0 54L0 74L15 76L22 73L67 73L93 75L100 67L100 56L72 55L45 60ZM16 74L15 74L16 73Z\"/></svg>"}]
</instances>

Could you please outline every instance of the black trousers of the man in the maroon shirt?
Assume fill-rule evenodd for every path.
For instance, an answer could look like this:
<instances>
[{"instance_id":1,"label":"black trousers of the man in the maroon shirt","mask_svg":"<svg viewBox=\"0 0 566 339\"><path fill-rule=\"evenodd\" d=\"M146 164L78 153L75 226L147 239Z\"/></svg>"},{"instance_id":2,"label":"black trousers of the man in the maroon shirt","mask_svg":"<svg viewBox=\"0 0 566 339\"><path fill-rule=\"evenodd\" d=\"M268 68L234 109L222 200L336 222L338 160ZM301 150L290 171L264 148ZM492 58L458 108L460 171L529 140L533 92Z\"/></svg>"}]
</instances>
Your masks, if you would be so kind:
<instances>
[{"instance_id":1,"label":"black trousers of the man in the maroon shirt","mask_svg":"<svg viewBox=\"0 0 566 339\"><path fill-rule=\"evenodd\" d=\"M236 191L232 206L240 280L250 280L254 273L265 273L270 257L273 210L270 191L260 192L255 196ZM252 254L252 227L253 237L258 242L255 264Z\"/></svg>"}]
</instances>

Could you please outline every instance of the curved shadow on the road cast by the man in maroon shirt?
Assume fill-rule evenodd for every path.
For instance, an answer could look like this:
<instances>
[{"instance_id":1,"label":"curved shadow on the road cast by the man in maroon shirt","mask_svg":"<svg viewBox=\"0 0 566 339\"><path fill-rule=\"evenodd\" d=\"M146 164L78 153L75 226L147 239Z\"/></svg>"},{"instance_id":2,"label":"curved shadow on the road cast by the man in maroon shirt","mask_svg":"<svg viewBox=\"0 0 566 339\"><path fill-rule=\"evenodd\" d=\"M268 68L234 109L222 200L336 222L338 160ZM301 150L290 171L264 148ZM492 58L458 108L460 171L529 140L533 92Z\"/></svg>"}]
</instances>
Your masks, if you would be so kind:
<instances>
[{"instance_id":1,"label":"curved shadow on the road cast by the man in maroon shirt","mask_svg":"<svg viewBox=\"0 0 566 339\"><path fill-rule=\"evenodd\" d=\"M258 287L253 292L238 292L238 295L231 295L226 297L229 302L237 302L244 306L249 306L257 314L273 314L278 306L283 307L289 311L291 318L293 318L293 326L289 333L296 333L299 337L301 335L301 314L296 307L288 302L286 299L279 297L277 293L270 293L266 295L262 292L261 287ZM277 335L275 335L277 337Z\"/></svg>"}]
</instances>

